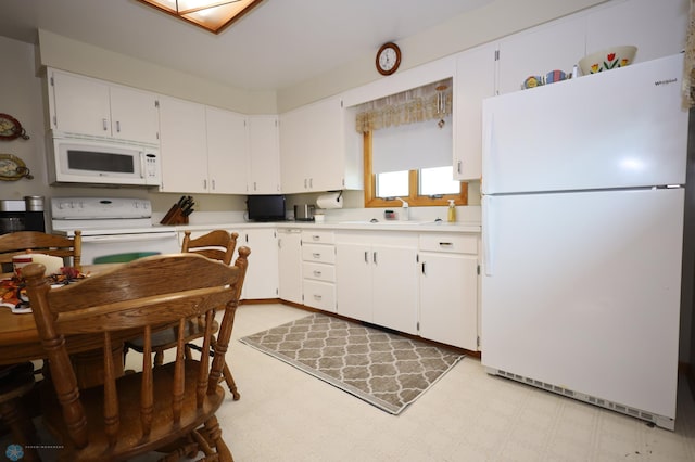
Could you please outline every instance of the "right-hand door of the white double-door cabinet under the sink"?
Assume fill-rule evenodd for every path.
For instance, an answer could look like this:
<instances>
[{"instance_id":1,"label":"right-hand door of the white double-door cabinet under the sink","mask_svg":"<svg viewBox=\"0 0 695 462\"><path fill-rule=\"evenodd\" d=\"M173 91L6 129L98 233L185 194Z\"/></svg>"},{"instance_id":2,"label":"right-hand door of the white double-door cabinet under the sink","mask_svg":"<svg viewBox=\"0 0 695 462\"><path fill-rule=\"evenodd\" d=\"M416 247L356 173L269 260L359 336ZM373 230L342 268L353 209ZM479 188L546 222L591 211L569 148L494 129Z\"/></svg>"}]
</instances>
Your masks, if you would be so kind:
<instances>
[{"instance_id":1,"label":"right-hand door of the white double-door cabinet under the sink","mask_svg":"<svg viewBox=\"0 0 695 462\"><path fill-rule=\"evenodd\" d=\"M417 334L417 251L413 247L372 247L372 322Z\"/></svg>"}]
</instances>

